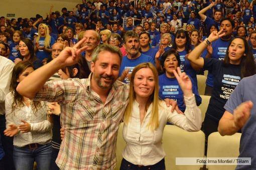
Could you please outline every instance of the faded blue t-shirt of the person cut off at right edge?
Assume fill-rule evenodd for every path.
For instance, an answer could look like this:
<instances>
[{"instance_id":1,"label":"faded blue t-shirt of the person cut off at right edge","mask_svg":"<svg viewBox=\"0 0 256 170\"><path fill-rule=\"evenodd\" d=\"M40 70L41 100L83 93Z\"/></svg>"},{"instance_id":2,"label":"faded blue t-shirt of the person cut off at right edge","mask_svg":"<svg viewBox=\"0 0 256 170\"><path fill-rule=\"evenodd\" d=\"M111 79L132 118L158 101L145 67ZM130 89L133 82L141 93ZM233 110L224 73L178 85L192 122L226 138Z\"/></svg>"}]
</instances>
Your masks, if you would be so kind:
<instances>
[{"instance_id":1,"label":"faded blue t-shirt of the person cut off at right edge","mask_svg":"<svg viewBox=\"0 0 256 170\"><path fill-rule=\"evenodd\" d=\"M256 103L256 75L243 78L232 95L226 102L224 109L233 114L233 110L245 101L252 101ZM236 169L256 169L256 107L253 106L250 112L250 117L241 129L242 135L240 139L239 156L238 157L250 157L251 165L237 165Z\"/></svg>"}]
</instances>

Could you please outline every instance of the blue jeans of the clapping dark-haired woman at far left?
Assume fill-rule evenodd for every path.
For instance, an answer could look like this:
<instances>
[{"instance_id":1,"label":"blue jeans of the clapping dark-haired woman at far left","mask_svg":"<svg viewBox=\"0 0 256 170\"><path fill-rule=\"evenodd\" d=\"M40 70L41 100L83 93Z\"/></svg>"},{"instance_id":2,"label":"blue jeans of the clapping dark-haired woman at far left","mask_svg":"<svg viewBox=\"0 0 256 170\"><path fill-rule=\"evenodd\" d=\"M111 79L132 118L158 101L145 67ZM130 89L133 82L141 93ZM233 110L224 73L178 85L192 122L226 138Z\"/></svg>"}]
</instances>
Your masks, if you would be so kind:
<instances>
[{"instance_id":1,"label":"blue jeans of the clapping dark-haired woman at far left","mask_svg":"<svg viewBox=\"0 0 256 170\"><path fill-rule=\"evenodd\" d=\"M52 143L39 146L36 149L14 146L14 165L16 170L33 170L34 161L38 170L49 170L52 157Z\"/></svg>"}]
</instances>

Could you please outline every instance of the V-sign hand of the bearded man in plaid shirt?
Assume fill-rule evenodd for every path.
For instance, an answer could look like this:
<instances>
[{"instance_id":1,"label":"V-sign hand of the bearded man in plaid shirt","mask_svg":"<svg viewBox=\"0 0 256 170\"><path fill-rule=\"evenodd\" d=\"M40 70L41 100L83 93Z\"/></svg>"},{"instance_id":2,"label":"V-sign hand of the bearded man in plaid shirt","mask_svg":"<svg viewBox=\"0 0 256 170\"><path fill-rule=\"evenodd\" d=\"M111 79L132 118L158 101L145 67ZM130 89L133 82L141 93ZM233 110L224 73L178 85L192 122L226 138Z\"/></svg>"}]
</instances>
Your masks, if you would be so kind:
<instances>
[{"instance_id":1,"label":"V-sign hand of the bearded man in plaid shirt","mask_svg":"<svg viewBox=\"0 0 256 170\"><path fill-rule=\"evenodd\" d=\"M73 64L76 64L79 61L80 54L85 51L89 46L83 46L81 45L86 41L86 38L83 38L78 43L76 43L73 47L66 47L60 55L56 58L59 60L59 62L65 66L71 66Z\"/></svg>"}]
</instances>

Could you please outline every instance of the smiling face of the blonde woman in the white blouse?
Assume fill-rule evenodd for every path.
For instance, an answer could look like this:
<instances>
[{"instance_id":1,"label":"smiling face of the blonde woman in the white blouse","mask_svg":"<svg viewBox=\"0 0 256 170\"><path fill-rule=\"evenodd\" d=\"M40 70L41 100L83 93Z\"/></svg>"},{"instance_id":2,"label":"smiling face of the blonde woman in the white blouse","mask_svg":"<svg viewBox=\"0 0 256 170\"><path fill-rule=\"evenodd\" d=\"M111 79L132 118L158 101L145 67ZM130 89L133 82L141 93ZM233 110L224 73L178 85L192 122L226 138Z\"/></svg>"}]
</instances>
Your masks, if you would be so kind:
<instances>
[{"instance_id":1,"label":"smiling face of the blonde woman in the white blouse","mask_svg":"<svg viewBox=\"0 0 256 170\"><path fill-rule=\"evenodd\" d=\"M150 68L142 68L134 76L134 92L136 99L148 101L155 90L155 78Z\"/></svg>"}]
</instances>

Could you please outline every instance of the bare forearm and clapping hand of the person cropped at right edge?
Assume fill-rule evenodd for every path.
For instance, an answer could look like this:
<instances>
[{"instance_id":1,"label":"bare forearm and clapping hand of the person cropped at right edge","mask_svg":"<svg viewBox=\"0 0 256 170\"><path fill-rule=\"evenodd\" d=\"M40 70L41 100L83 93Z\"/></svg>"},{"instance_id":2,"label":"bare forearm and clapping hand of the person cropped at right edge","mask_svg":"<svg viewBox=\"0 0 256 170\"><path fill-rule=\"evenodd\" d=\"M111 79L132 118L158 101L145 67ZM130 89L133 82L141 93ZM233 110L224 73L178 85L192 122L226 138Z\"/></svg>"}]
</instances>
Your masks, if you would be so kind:
<instances>
[{"instance_id":1,"label":"bare forearm and clapping hand of the person cropped at right edge","mask_svg":"<svg viewBox=\"0 0 256 170\"><path fill-rule=\"evenodd\" d=\"M253 107L251 101L240 104L231 114L225 111L219 121L218 131L224 135L232 135L241 129L250 117L250 111Z\"/></svg>"}]
</instances>

